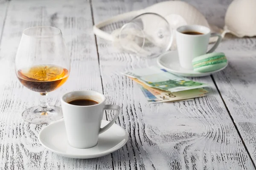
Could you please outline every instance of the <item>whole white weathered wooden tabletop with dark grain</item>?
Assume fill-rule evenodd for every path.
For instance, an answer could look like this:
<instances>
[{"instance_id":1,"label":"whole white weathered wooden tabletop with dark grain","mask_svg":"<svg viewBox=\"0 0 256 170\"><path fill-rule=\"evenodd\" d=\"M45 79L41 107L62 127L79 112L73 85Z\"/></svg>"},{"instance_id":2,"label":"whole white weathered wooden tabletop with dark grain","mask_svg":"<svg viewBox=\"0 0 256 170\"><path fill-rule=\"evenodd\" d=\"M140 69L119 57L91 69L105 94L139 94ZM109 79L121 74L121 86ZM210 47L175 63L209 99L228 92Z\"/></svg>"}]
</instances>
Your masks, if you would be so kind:
<instances>
[{"instance_id":1,"label":"whole white weathered wooden tabletop with dark grain","mask_svg":"<svg viewBox=\"0 0 256 170\"><path fill-rule=\"evenodd\" d=\"M187 0L219 27L232 0ZM145 8L156 0L0 0L0 170L253 170L256 164L256 38L227 35L217 51L229 66L194 80L208 83L206 97L149 105L140 88L119 73L156 64L116 51L95 37L93 23ZM50 93L60 105L67 91L90 89L122 107L116 123L129 133L124 147L97 159L58 156L38 142L45 125L32 125L21 112L38 94L24 88L14 71L22 31L31 26L63 31L71 52L70 78ZM105 30L113 30L111 25ZM105 119L112 119L108 112Z\"/></svg>"}]
</instances>

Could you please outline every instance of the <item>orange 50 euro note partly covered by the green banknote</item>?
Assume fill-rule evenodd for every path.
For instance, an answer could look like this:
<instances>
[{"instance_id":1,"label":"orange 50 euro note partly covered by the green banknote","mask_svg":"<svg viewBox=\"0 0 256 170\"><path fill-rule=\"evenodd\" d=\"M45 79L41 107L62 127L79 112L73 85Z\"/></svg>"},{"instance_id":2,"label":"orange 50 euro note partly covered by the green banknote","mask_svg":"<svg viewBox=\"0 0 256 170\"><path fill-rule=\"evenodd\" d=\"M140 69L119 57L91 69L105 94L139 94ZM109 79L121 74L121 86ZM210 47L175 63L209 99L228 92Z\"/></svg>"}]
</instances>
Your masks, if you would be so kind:
<instances>
[{"instance_id":1,"label":"orange 50 euro note partly covered by the green banknote","mask_svg":"<svg viewBox=\"0 0 256 170\"><path fill-rule=\"evenodd\" d=\"M140 84L143 88L148 90L153 96L155 96L158 100L162 102L173 102L177 100L202 97L202 96L205 96L206 93L208 93L208 91L205 90L204 88L196 88L192 90L178 91L178 92L163 91L160 89L151 88L143 84L142 82L140 82L138 79L134 79L134 78L131 78L131 79L137 82L138 84Z\"/></svg>"}]
</instances>

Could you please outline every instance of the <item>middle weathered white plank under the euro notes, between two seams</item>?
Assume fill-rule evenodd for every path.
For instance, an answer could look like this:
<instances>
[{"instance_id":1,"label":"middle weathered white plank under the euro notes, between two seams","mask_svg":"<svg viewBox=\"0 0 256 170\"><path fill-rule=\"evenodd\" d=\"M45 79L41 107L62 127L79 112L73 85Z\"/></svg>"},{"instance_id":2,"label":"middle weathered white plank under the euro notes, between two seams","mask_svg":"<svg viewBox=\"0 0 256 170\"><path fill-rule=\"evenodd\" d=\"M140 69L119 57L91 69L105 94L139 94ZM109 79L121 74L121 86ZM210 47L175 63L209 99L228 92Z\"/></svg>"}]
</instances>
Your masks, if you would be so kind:
<instances>
[{"instance_id":1,"label":"middle weathered white plank under the euro notes, between two seams","mask_svg":"<svg viewBox=\"0 0 256 170\"><path fill-rule=\"evenodd\" d=\"M200 2L191 1L194 6ZM93 0L93 17L97 23L153 3L156 2ZM221 1L217 3L223 5ZM209 10L198 6L204 13ZM119 22L102 29L111 32L120 25ZM140 88L120 72L147 67L155 64L155 59L116 51L111 42L100 38L97 45L104 94L110 104L122 106L118 124L130 134L125 147L111 154L113 169L255 169L211 77L195 79L209 84L207 97L192 102L148 105ZM112 117L113 113L108 113L107 118Z\"/></svg>"}]
</instances>

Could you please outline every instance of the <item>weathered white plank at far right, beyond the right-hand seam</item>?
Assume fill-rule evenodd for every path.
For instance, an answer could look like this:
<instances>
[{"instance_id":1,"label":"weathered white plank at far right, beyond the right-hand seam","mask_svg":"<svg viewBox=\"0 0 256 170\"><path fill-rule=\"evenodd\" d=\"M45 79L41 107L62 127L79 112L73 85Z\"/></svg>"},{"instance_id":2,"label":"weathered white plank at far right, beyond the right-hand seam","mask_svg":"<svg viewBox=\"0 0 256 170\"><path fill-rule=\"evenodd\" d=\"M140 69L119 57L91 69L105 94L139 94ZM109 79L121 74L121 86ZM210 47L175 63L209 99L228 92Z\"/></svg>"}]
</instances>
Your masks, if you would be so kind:
<instances>
[{"instance_id":1,"label":"weathered white plank at far right, beyond the right-hand seam","mask_svg":"<svg viewBox=\"0 0 256 170\"><path fill-rule=\"evenodd\" d=\"M234 44L234 45L230 45ZM247 150L256 164L256 38L229 36L221 51L229 66L213 77Z\"/></svg>"}]
</instances>

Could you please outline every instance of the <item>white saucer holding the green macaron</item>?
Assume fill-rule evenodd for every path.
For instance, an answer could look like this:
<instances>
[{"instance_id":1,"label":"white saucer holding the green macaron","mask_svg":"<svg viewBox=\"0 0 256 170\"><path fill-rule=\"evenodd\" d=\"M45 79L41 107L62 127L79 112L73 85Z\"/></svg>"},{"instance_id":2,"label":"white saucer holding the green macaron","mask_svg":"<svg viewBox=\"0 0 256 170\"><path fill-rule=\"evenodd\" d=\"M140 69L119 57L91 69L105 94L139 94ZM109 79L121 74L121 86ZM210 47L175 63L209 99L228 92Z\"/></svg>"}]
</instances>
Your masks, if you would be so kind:
<instances>
[{"instance_id":1,"label":"white saucer holding the green macaron","mask_svg":"<svg viewBox=\"0 0 256 170\"><path fill-rule=\"evenodd\" d=\"M180 67L180 62L179 62L179 56L177 51L167 51L164 54L161 54L157 58L157 64L161 67L166 69L166 71L169 71L172 74L176 74L178 76L183 76L183 77L204 77L204 76L209 76L213 73L216 73L218 71L223 70L224 68L227 67L227 65L219 70L216 71L210 71L207 73L199 73L194 70L186 70L182 67Z\"/></svg>"}]
</instances>

